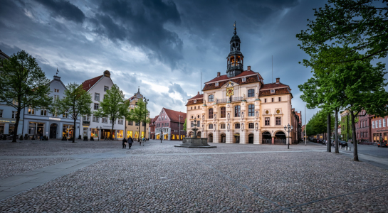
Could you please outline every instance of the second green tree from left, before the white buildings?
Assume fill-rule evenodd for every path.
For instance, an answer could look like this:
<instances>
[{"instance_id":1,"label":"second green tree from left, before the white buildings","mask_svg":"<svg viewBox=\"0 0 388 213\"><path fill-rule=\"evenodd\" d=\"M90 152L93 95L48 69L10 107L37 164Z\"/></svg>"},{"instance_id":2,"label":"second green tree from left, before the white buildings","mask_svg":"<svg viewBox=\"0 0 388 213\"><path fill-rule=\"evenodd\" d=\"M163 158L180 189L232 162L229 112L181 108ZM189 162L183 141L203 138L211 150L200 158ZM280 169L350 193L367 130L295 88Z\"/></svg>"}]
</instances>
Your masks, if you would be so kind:
<instances>
[{"instance_id":1,"label":"second green tree from left, before the white buildings","mask_svg":"<svg viewBox=\"0 0 388 213\"><path fill-rule=\"evenodd\" d=\"M70 83L66 86L65 97L63 99L54 100L52 111L58 111L58 114L66 114L70 116L74 121L74 131L75 131L75 121L78 117L83 115L90 115L92 111L90 110L90 104L93 103L92 96L89 92L86 92L83 89L82 84ZM73 143L75 143L75 134L73 131Z\"/></svg>"}]
</instances>

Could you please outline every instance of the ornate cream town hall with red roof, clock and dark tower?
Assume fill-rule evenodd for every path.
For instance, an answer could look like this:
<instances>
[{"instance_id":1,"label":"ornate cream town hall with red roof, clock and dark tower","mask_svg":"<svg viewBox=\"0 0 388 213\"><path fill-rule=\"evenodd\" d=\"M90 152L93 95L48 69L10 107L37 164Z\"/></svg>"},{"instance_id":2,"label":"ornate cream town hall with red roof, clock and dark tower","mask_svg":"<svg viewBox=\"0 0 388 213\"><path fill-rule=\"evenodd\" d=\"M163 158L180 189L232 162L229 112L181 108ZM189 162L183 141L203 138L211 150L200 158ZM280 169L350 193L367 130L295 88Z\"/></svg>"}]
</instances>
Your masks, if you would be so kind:
<instances>
[{"instance_id":1,"label":"ornate cream town hall with red roof, clock and dark tower","mask_svg":"<svg viewBox=\"0 0 388 213\"><path fill-rule=\"evenodd\" d=\"M286 144L291 125L291 89L282 84L264 84L258 72L243 70L240 38L234 32L227 58L226 75L205 83L202 91L187 102L187 132L192 135L194 119L199 134L214 143Z\"/></svg>"}]
</instances>

